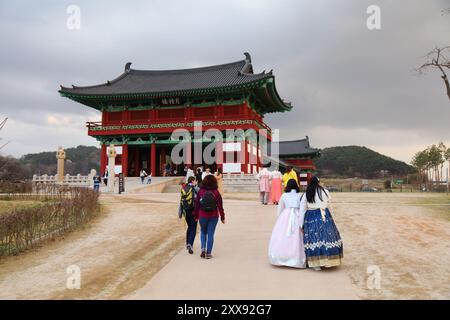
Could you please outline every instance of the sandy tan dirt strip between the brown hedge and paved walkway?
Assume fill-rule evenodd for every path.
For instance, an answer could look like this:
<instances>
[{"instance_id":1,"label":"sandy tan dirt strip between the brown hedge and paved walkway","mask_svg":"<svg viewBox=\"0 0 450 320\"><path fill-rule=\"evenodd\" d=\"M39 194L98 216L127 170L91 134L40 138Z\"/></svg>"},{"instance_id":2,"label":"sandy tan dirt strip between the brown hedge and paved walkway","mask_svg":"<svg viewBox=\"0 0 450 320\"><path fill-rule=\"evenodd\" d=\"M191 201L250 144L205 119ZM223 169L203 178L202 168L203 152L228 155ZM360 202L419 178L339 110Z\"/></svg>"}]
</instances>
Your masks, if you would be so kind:
<instances>
[{"instance_id":1,"label":"sandy tan dirt strip between the brown hedge and paved walkway","mask_svg":"<svg viewBox=\"0 0 450 320\"><path fill-rule=\"evenodd\" d=\"M0 299L112 299L139 288L178 252L176 204L139 195L102 197L107 212L84 230L0 260ZM168 236L170 235L170 236ZM68 290L68 266L81 289Z\"/></svg>"}]
</instances>

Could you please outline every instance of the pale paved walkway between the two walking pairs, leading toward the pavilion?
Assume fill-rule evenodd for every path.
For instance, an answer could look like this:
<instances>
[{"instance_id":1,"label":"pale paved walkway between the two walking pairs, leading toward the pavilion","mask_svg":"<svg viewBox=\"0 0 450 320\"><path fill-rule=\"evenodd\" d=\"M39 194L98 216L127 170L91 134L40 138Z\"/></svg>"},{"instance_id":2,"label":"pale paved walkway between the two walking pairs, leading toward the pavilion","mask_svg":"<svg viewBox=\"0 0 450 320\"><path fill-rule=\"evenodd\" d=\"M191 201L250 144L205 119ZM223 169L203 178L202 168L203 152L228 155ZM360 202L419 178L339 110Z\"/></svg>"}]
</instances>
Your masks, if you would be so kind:
<instances>
[{"instance_id":1,"label":"pale paved walkway between the two walking pairs, leading toward the pavilion","mask_svg":"<svg viewBox=\"0 0 450 320\"><path fill-rule=\"evenodd\" d=\"M255 195L253 195L255 198ZM317 272L274 267L268 244L276 207L257 200L226 199L226 224L219 223L214 258L180 251L131 299L357 299L346 266Z\"/></svg>"}]
</instances>

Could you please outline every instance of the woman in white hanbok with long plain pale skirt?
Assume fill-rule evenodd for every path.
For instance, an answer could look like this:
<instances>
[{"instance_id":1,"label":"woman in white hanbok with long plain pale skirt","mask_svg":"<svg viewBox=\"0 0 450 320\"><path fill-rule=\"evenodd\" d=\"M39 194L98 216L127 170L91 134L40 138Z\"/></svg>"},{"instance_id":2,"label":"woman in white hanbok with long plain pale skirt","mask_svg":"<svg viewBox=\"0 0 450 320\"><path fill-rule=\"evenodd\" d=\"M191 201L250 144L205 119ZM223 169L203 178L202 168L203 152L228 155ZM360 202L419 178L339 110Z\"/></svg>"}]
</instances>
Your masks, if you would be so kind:
<instances>
[{"instance_id":1,"label":"woman in white hanbok with long plain pale skirt","mask_svg":"<svg viewBox=\"0 0 450 320\"><path fill-rule=\"evenodd\" d=\"M287 182L285 192L278 203L278 219L269 243L269 261L275 266L305 268L303 246L303 218L301 195L294 179Z\"/></svg>"}]
</instances>

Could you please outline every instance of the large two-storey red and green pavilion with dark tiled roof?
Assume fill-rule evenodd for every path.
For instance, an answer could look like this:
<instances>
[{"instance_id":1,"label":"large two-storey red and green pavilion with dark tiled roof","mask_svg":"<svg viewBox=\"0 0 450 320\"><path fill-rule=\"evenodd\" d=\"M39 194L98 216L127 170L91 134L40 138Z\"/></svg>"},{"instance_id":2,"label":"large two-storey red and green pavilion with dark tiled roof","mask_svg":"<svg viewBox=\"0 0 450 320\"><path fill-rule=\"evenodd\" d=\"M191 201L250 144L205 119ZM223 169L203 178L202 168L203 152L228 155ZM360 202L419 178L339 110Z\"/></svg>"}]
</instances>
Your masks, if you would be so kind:
<instances>
[{"instance_id":1,"label":"large two-storey red and green pavilion with dark tiled roof","mask_svg":"<svg viewBox=\"0 0 450 320\"><path fill-rule=\"evenodd\" d=\"M59 93L101 111L100 122L87 123L88 134L101 144L100 171L103 173L107 165L107 147L114 144L117 173L125 176L138 176L142 169L161 175L171 163L172 147L179 143L171 138L175 129L187 130L190 141L203 144L211 140L194 139L199 121L203 131L265 129L265 137L271 141L264 115L292 108L277 93L272 71L253 72L248 53L237 62L181 70L136 70L127 63L114 80L93 86L61 86ZM212 141L216 144L212 169L258 172L263 160L258 137L243 135L238 142L236 137L231 138L230 142L227 137ZM187 165L194 164L191 150L188 148L185 155ZM238 152L244 156L237 157ZM227 157L227 153L235 156ZM184 165L176 169L180 172Z\"/></svg>"}]
</instances>

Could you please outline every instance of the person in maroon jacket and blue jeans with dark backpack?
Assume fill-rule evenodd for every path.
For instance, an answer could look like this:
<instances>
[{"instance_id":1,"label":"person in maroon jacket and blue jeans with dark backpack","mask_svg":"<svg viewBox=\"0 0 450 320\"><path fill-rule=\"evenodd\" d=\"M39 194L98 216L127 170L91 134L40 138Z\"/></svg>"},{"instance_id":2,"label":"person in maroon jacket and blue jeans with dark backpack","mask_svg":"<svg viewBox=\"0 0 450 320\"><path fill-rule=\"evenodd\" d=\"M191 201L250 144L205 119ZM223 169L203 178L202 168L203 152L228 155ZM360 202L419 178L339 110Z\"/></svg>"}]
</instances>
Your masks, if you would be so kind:
<instances>
[{"instance_id":1,"label":"person in maroon jacket and blue jeans with dark backpack","mask_svg":"<svg viewBox=\"0 0 450 320\"><path fill-rule=\"evenodd\" d=\"M214 175L205 176L195 199L195 219L200 222L200 241L202 253L201 258L211 259L214 233L217 222L225 223L225 212L223 210L222 196L217 190L217 179Z\"/></svg>"}]
</instances>

